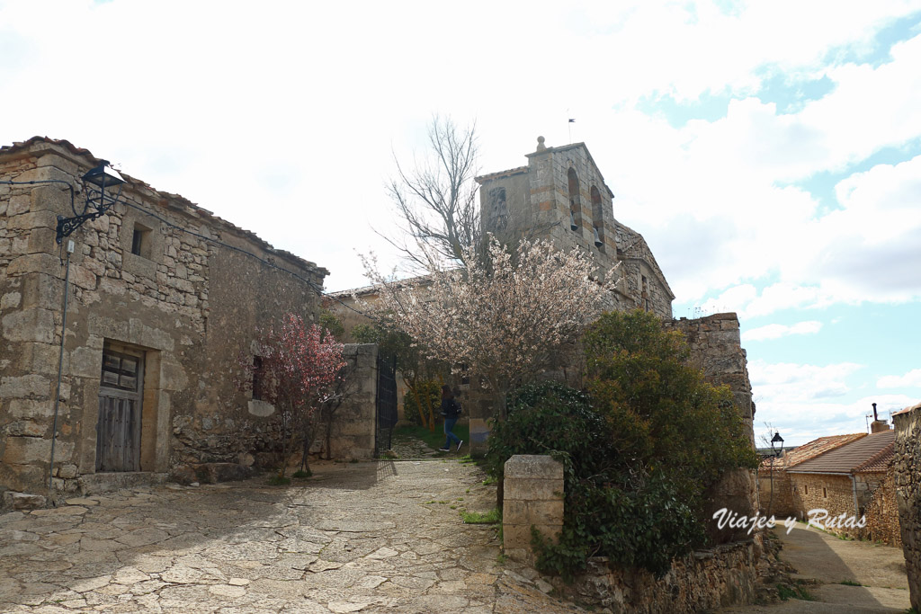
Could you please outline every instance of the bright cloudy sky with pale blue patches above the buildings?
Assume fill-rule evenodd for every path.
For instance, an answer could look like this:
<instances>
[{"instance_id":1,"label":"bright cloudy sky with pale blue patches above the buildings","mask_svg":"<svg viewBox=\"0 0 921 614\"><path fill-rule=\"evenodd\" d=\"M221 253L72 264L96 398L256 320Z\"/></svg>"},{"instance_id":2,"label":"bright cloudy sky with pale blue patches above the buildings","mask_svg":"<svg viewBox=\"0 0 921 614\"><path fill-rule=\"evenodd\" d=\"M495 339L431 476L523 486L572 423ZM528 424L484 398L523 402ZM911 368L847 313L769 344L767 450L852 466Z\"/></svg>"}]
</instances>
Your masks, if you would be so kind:
<instances>
[{"instance_id":1,"label":"bright cloudy sky with pale blue patches above the buildings","mask_svg":"<svg viewBox=\"0 0 921 614\"><path fill-rule=\"evenodd\" d=\"M0 0L0 144L86 147L331 290L392 261L433 113L483 172L584 141L675 316L739 313L759 434L921 400L921 2Z\"/></svg>"}]
</instances>

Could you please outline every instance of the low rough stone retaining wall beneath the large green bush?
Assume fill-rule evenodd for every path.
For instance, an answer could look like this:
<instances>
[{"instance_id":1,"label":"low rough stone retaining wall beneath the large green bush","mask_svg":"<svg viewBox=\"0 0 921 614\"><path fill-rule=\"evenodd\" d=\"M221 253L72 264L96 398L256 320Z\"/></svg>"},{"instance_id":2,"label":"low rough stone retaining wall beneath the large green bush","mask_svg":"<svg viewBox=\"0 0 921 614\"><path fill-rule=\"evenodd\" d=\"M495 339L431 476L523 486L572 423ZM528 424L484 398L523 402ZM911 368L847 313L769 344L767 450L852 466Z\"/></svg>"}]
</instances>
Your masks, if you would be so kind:
<instances>
[{"instance_id":1,"label":"low rough stone retaining wall beneath the large green bush","mask_svg":"<svg viewBox=\"0 0 921 614\"><path fill-rule=\"evenodd\" d=\"M561 594L612 612L652 614L710 611L752 603L757 571L752 539L696 550L671 563L658 580L646 570L611 569L607 559L589 561L572 585L553 578Z\"/></svg>"}]
</instances>

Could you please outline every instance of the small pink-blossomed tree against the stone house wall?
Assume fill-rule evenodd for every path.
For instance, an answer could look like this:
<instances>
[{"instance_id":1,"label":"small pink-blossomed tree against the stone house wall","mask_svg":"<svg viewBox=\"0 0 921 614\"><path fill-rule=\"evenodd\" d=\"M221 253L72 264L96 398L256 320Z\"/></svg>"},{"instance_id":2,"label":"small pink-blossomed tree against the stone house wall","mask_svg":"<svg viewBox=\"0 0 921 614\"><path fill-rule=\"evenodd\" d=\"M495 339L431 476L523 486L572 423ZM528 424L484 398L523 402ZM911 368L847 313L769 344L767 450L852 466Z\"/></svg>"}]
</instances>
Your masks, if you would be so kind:
<instances>
[{"instance_id":1,"label":"small pink-blossomed tree against the stone house wall","mask_svg":"<svg viewBox=\"0 0 921 614\"><path fill-rule=\"evenodd\" d=\"M280 325L261 330L256 338L258 360L240 356L242 390L258 387L262 400L274 405L281 437L281 467L285 473L298 445L312 441L314 415L342 376L344 345L316 324L309 328L296 314L286 314ZM306 455L305 455L306 457ZM307 458L303 460L307 467Z\"/></svg>"}]
</instances>

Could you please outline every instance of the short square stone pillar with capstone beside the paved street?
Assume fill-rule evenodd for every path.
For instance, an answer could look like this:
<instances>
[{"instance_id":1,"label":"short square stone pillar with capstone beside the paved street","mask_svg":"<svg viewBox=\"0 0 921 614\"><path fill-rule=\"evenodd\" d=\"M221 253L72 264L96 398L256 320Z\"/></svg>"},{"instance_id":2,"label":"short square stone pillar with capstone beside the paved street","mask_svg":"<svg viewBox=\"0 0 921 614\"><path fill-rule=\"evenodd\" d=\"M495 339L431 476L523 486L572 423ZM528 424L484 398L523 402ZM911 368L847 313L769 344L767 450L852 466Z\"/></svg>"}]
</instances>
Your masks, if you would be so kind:
<instances>
[{"instance_id":1,"label":"short square stone pillar with capstone beside the paved street","mask_svg":"<svg viewBox=\"0 0 921 614\"><path fill-rule=\"evenodd\" d=\"M506 461L502 533L506 556L532 564L530 527L556 542L563 529L563 464L538 455Z\"/></svg>"}]
</instances>

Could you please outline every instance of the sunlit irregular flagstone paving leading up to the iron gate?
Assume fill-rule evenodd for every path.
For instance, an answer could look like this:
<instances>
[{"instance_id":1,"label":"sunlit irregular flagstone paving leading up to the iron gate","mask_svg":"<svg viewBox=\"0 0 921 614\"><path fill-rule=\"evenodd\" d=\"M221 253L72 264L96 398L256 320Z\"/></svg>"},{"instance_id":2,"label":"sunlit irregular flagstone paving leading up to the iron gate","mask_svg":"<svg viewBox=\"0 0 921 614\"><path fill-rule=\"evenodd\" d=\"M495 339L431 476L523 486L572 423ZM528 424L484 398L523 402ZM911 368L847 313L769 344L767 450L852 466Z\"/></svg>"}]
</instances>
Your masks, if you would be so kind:
<instances>
[{"instance_id":1,"label":"sunlit irregular flagstone paving leading up to the iron gate","mask_svg":"<svg viewBox=\"0 0 921 614\"><path fill-rule=\"evenodd\" d=\"M456 460L318 465L0 516L0 611L573 612L464 525L495 488ZM455 509L455 507L457 509Z\"/></svg>"}]
</instances>

